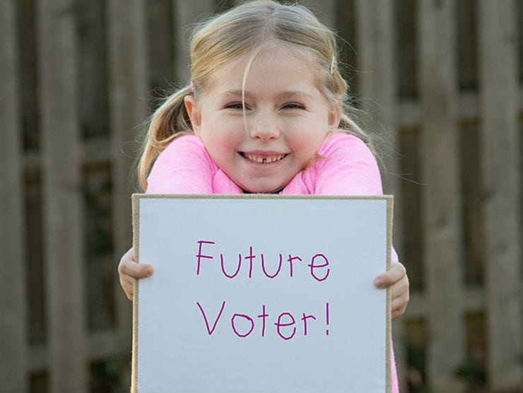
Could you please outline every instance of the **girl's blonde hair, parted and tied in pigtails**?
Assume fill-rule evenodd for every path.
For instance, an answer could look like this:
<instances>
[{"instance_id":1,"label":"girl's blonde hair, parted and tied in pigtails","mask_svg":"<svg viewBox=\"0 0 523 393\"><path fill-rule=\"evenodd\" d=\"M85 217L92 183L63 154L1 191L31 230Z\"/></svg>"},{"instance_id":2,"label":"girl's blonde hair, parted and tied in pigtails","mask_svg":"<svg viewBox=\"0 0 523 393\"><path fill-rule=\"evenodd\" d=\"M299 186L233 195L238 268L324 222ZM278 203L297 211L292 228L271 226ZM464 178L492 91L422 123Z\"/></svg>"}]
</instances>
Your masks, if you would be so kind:
<instances>
[{"instance_id":1,"label":"girl's blonde hair, parted and tied in pigtails","mask_svg":"<svg viewBox=\"0 0 523 393\"><path fill-rule=\"evenodd\" d=\"M191 84L170 95L152 115L138 165L140 186L147 187L151 164L178 136L192 134L184 97L197 96L226 72L240 57L251 54L249 65L264 48L285 45L305 57L316 71L317 88L331 105L341 105L339 128L362 139L374 153L365 132L351 116L347 83L339 71L335 33L319 22L305 6L279 4L274 0L247 1L196 26L190 44ZM349 116L349 114L351 116Z\"/></svg>"}]
</instances>

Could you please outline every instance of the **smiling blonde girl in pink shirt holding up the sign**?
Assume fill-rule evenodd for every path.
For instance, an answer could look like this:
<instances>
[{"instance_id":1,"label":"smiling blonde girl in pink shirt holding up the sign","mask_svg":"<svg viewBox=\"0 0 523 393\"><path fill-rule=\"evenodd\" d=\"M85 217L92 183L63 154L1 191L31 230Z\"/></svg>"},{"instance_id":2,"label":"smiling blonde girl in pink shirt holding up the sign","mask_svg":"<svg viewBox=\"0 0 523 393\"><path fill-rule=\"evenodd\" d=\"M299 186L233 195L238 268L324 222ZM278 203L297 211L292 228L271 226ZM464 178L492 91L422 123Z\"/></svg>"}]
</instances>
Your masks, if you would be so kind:
<instances>
[{"instance_id":1,"label":"smiling blonde girl in pink shirt holding up the sign","mask_svg":"<svg viewBox=\"0 0 523 393\"><path fill-rule=\"evenodd\" d=\"M334 33L298 5L251 1L213 18L191 43L192 82L155 112L139 163L153 194L380 195L368 136L351 119ZM390 287L392 315L409 300L404 266ZM129 299L152 266L129 250L119 263ZM393 392L397 392L392 361Z\"/></svg>"}]
</instances>

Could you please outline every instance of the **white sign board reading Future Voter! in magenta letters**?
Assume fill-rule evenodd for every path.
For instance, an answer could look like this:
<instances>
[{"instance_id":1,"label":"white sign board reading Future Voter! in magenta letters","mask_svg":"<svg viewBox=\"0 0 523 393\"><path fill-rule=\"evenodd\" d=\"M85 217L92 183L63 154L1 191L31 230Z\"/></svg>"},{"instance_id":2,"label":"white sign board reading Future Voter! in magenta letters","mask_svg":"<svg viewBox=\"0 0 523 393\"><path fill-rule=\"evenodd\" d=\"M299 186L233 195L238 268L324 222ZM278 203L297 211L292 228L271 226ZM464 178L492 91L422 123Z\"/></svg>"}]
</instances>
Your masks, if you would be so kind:
<instances>
[{"instance_id":1,"label":"white sign board reading Future Voter! in magenta letters","mask_svg":"<svg viewBox=\"0 0 523 393\"><path fill-rule=\"evenodd\" d=\"M390 391L392 197L133 197L139 393Z\"/></svg>"}]
</instances>

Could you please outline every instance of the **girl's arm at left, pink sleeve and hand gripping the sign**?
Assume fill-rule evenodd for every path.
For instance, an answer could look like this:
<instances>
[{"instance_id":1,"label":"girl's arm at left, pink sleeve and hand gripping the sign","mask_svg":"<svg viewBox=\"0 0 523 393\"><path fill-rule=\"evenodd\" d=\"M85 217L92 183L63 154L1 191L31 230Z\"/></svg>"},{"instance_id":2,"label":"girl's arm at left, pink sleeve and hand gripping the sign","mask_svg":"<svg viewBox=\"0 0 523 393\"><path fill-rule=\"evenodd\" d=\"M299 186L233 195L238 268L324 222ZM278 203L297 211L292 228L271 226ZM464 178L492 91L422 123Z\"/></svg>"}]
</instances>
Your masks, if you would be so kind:
<instances>
[{"instance_id":1,"label":"girl's arm at left, pink sleeve and hand gripping the sign","mask_svg":"<svg viewBox=\"0 0 523 393\"><path fill-rule=\"evenodd\" d=\"M211 194L215 168L204 144L197 136L187 135L172 141L160 153L147 179L148 194ZM133 249L120 259L120 286L129 300L136 279L153 274L150 264L136 263Z\"/></svg>"}]
</instances>

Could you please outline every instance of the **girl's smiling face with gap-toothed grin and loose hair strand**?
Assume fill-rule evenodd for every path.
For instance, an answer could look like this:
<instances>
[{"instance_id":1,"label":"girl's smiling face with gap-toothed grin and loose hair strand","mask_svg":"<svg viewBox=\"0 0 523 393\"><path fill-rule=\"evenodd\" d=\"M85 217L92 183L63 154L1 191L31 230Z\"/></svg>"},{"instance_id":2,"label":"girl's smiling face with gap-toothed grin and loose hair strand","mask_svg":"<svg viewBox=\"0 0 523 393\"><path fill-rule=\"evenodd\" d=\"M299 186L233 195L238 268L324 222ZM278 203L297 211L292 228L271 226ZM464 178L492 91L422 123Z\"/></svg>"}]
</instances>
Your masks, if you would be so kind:
<instances>
[{"instance_id":1,"label":"girl's smiling face with gap-toothed grin and loose hair strand","mask_svg":"<svg viewBox=\"0 0 523 393\"><path fill-rule=\"evenodd\" d=\"M315 84L314 70L285 47L249 55L211 81L198 100L185 98L194 134L233 182L248 192L278 192L315 158L339 108ZM247 127L245 127L247 125Z\"/></svg>"}]
</instances>

